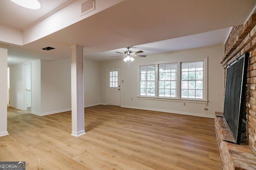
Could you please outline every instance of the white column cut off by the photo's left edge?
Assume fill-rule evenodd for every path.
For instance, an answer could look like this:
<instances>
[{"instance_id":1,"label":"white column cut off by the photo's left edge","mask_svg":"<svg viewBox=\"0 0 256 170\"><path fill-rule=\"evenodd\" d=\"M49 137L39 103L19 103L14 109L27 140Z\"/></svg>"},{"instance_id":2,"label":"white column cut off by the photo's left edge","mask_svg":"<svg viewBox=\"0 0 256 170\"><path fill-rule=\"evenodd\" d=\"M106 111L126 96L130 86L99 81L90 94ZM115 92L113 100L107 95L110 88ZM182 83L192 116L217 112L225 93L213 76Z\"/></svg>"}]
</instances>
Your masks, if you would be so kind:
<instances>
[{"instance_id":1,"label":"white column cut off by the photo's left edge","mask_svg":"<svg viewBox=\"0 0 256 170\"><path fill-rule=\"evenodd\" d=\"M0 137L7 131L7 53L8 45L0 44Z\"/></svg>"}]
</instances>

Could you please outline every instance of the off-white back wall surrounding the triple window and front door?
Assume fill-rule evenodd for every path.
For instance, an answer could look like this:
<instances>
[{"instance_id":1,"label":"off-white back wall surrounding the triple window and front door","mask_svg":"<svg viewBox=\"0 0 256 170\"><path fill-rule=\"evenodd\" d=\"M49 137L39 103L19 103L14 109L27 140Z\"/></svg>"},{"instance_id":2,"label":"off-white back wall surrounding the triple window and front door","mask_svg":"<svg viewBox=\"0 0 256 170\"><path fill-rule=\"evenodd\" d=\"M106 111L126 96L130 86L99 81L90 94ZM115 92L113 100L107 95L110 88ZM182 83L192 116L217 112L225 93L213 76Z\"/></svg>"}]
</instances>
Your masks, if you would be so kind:
<instances>
[{"instance_id":1,"label":"off-white back wall surrounding the triple window and front door","mask_svg":"<svg viewBox=\"0 0 256 170\"><path fill-rule=\"evenodd\" d=\"M101 102L106 104L106 68L121 66L121 106L140 109L159 110L172 113L214 117L214 111L223 111L224 70L220 59L224 53L223 46L192 49L175 53L150 55L146 58L135 58L128 66L122 59L101 63ZM159 61L175 62L186 59L202 59L208 57L208 106L205 104L170 102L137 99L139 88L139 65L154 64ZM133 100L131 100L133 98ZM204 108L208 108L205 111Z\"/></svg>"}]
</instances>

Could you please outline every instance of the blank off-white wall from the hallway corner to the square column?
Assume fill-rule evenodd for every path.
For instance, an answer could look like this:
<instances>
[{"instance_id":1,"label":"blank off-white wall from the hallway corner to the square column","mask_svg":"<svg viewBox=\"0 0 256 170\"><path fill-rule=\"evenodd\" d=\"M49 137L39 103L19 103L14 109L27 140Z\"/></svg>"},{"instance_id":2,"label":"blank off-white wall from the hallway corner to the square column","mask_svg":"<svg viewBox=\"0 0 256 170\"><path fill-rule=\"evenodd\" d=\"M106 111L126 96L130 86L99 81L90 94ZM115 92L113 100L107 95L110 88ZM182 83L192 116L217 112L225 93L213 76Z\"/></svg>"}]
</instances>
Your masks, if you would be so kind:
<instances>
[{"instance_id":1,"label":"blank off-white wall from the hallway corner to the square column","mask_svg":"<svg viewBox=\"0 0 256 170\"><path fill-rule=\"evenodd\" d=\"M41 115L71 109L70 59L41 61Z\"/></svg>"}]
</instances>

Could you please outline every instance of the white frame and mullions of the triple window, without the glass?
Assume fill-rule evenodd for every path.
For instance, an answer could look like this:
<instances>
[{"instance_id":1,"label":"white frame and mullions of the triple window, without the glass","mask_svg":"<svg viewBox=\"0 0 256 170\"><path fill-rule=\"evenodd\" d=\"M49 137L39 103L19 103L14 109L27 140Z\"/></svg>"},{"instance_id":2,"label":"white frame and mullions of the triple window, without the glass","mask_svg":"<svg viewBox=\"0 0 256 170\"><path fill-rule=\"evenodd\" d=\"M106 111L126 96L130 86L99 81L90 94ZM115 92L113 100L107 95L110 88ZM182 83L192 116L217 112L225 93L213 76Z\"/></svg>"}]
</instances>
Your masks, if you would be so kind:
<instances>
[{"instance_id":1,"label":"white frame and mullions of the triple window, without the glass","mask_svg":"<svg viewBox=\"0 0 256 170\"><path fill-rule=\"evenodd\" d=\"M181 63L185 62L198 62L203 61L203 99L193 99L193 98L181 98ZM159 97L158 90L159 90L159 64L172 64L177 63L177 97L176 98L169 98L169 97ZM156 86L156 96L140 96L140 66L146 65L156 65L156 72L155 72L155 86ZM201 104L208 104L208 57L200 58L200 59L186 59L182 61L164 61L164 62L155 62L155 63L148 63L148 64L138 64L138 99L146 99L146 100L161 100L161 101L173 101L173 102L188 102L188 103L201 103Z\"/></svg>"}]
</instances>

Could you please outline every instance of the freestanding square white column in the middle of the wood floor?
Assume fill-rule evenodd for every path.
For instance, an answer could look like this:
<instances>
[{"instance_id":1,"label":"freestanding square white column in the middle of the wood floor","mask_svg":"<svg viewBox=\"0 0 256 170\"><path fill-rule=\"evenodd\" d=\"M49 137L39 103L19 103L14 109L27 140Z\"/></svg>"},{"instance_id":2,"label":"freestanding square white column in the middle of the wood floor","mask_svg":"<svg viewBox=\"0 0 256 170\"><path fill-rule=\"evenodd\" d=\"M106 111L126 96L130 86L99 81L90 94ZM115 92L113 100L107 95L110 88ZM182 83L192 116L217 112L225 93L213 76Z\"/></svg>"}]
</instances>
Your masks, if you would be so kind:
<instances>
[{"instance_id":1,"label":"freestanding square white column in the middle of the wood floor","mask_svg":"<svg viewBox=\"0 0 256 170\"><path fill-rule=\"evenodd\" d=\"M71 46L71 106L72 134L75 137L84 131L84 47Z\"/></svg>"}]
</instances>

